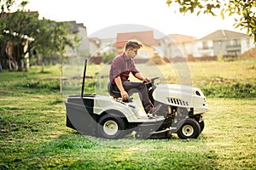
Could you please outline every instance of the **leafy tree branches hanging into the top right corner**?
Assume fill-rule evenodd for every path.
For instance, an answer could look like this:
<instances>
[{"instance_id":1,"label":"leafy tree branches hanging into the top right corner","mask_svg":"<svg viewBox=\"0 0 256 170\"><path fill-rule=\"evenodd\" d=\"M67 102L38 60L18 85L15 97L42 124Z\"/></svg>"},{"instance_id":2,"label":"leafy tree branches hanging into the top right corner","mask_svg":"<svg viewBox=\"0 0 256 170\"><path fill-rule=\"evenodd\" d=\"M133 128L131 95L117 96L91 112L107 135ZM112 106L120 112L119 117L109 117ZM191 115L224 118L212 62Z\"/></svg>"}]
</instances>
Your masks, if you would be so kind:
<instances>
[{"instance_id":1,"label":"leafy tree branches hanging into the top right corner","mask_svg":"<svg viewBox=\"0 0 256 170\"><path fill-rule=\"evenodd\" d=\"M236 28L246 29L249 36L256 42L256 1L255 0L166 0L171 6L178 5L180 13L186 14L220 14L224 19L225 14L235 15Z\"/></svg>"}]
</instances>

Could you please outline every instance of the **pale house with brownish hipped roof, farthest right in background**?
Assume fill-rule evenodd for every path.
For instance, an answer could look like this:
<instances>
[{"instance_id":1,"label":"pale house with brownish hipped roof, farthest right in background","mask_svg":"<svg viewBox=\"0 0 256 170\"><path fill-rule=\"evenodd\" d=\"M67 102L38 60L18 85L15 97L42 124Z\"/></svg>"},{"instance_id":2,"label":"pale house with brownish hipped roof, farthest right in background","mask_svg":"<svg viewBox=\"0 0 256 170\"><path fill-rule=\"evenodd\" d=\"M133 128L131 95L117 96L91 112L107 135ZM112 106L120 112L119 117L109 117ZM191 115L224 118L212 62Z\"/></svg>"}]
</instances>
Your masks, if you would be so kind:
<instances>
[{"instance_id":1,"label":"pale house with brownish hipped roof, farthest right in background","mask_svg":"<svg viewBox=\"0 0 256 170\"><path fill-rule=\"evenodd\" d=\"M236 31L218 30L195 42L195 57L237 56L253 48L253 37Z\"/></svg>"}]
</instances>

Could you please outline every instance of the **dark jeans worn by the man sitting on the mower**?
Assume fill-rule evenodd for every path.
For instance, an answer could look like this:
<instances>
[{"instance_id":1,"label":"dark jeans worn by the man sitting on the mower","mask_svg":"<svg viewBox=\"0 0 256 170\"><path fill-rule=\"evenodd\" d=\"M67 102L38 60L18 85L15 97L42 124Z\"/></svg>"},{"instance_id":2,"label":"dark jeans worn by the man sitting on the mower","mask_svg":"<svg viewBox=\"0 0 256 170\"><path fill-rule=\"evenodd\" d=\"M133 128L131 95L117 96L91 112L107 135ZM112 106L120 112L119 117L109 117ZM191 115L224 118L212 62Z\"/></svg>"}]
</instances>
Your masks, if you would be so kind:
<instances>
[{"instance_id":1,"label":"dark jeans worn by the man sitting on the mower","mask_svg":"<svg viewBox=\"0 0 256 170\"><path fill-rule=\"evenodd\" d=\"M143 82L122 82L125 91L131 95L138 93L143 103L144 110L148 113L152 107L152 103L148 97L148 88Z\"/></svg>"}]
</instances>

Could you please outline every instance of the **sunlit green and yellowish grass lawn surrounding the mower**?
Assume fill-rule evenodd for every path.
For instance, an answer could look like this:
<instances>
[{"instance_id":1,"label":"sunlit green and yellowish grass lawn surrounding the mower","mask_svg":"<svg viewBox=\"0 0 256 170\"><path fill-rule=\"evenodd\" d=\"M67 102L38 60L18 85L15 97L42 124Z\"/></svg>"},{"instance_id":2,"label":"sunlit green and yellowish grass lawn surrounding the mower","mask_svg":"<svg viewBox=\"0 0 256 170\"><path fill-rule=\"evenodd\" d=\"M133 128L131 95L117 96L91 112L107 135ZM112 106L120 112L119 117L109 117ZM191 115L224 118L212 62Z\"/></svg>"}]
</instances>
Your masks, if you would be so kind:
<instances>
[{"instance_id":1,"label":"sunlit green and yellowish grass lawn surrounding the mower","mask_svg":"<svg viewBox=\"0 0 256 170\"><path fill-rule=\"evenodd\" d=\"M191 62L186 66L196 87L205 92L219 88L223 94L208 94L206 127L198 139L189 140L175 134L171 139L143 140L132 135L119 140L81 135L65 124L66 96L61 98L59 91L59 66L46 67L44 73L36 67L28 72L1 72L0 169L256 169L256 62ZM180 82L173 67L178 68L158 66L166 82ZM102 70L102 65L88 66L92 77ZM67 76L68 66L65 71ZM82 73L71 75L76 74ZM237 83L238 88L249 84L248 91L238 90L236 98L225 94L222 87Z\"/></svg>"}]
</instances>

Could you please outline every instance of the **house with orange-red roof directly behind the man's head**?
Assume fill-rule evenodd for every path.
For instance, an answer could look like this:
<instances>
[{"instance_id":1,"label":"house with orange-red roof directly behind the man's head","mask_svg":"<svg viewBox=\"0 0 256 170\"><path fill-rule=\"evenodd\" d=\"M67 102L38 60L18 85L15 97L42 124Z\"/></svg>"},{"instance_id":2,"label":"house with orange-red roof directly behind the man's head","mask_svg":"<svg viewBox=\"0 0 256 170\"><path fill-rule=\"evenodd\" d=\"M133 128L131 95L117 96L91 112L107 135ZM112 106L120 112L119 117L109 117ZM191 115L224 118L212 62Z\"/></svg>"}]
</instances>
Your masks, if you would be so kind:
<instances>
[{"instance_id":1,"label":"house with orange-red roof directly behind the man's head","mask_svg":"<svg viewBox=\"0 0 256 170\"><path fill-rule=\"evenodd\" d=\"M135 40L143 44L143 48L138 51L137 59L148 59L154 56L153 31L118 33L115 42L118 54L124 51L125 43L129 40Z\"/></svg>"}]
</instances>

